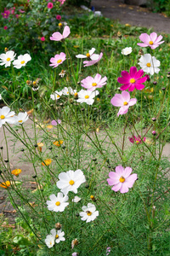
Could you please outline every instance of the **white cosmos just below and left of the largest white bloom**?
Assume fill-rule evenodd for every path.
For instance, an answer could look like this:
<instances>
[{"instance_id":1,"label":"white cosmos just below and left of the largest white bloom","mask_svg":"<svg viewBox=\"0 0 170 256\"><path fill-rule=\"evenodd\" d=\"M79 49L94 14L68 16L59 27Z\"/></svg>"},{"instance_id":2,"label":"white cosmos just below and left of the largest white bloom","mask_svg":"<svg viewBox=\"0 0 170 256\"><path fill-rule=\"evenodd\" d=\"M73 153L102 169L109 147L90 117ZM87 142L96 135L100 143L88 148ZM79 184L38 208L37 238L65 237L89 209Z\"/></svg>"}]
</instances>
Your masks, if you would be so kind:
<instances>
[{"instance_id":1,"label":"white cosmos just below and left of the largest white bloom","mask_svg":"<svg viewBox=\"0 0 170 256\"><path fill-rule=\"evenodd\" d=\"M64 212L65 207L69 205L66 202L69 198L67 195L63 196L63 193L59 192L58 195L49 195L50 201L47 201L48 210L53 212Z\"/></svg>"}]
</instances>

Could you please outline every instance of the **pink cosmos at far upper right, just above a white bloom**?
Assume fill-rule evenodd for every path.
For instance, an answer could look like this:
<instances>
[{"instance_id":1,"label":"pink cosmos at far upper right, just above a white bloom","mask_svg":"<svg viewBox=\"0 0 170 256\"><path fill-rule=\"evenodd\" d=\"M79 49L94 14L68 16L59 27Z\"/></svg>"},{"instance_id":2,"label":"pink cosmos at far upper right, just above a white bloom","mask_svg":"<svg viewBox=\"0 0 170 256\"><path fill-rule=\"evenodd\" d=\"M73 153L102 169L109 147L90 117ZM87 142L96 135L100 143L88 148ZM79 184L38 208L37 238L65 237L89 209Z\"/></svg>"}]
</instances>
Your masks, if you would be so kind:
<instances>
[{"instance_id":1,"label":"pink cosmos at far upper right, just above a white bloom","mask_svg":"<svg viewBox=\"0 0 170 256\"><path fill-rule=\"evenodd\" d=\"M160 35L159 37L157 37L156 32L150 33L150 36L146 33L142 33L139 36L139 39L143 42L143 43L138 43L139 46L141 47L150 46L151 49L156 49L156 47L164 43L164 41L161 41L162 36Z\"/></svg>"}]
</instances>

